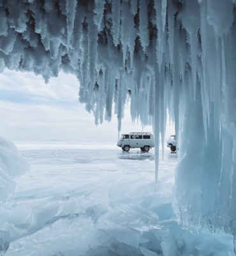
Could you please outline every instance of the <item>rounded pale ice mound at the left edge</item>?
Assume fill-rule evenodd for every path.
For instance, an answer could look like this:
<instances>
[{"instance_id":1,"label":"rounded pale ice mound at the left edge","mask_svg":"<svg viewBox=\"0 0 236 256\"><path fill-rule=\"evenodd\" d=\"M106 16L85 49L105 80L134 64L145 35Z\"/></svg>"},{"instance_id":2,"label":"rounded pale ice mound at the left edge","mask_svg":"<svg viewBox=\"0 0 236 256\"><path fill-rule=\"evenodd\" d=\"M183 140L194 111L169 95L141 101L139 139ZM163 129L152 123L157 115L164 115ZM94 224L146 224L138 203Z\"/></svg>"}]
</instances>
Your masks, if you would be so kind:
<instances>
[{"instance_id":1,"label":"rounded pale ice mound at the left edge","mask_svg":"<svg viewBox=\"0 0 236 256\"><path fill-rule=\"evenodd\" d=\"M14 143L0 137L0 204L15 191L13 178L26 173L29 163L20 156Z\"/></svg>"}]
</instances>

